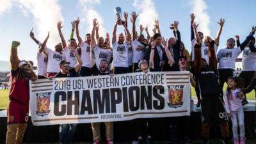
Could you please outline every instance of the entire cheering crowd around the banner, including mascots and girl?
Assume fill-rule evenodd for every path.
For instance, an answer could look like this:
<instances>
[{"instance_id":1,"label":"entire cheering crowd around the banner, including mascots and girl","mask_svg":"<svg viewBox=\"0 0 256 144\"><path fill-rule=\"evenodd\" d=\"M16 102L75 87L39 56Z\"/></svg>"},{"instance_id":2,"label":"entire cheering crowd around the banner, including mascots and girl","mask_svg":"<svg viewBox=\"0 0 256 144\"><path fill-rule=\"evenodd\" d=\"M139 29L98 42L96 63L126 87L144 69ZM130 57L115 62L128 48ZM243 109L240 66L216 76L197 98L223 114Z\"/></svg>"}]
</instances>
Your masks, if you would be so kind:
<instances>
[{"instance_id":1,"label":"entire cheering crowd around the banner, including mascots and girl","mask_svg":"<svg viewBox=\"0 0 256 144\"><path fill-rule=\"evenodd\" d=\"M28 122L28 79L36 81L36 79L51 79L52 77L86 77L150 71L189 71L190 81L195 87L198 98L197 106L202 108L202 143L209 143L209 131L214 119L219 122L223 143L227 144L230 137L228 130L230 119L234 143L245 143L243 105L248 103L245 93L252 91L256 85L256 48L253 37L256 28L252 28L242 43L239 42L239 36L236 36L236 40L229 38L227 47L218 51L225 19L220 19L216 38L211 38L197 30L195 15L191 13L191 54L189 54L180 38L178 21L170 24L173 36L164 39L158 20L155 21L154 29L152 29L154 35L150 36L147 26L140 25L140 30L136 31L137 17L136 12L131 13L131 31L128 29L128 13L124 13L124 20L118 17L111 39L108 33L106 33L106 38L99 35L97 19L93 20L92 33L87 33L84 39L81 38L80 20L74 20L68 42L61 32L62 23L58 22L57 28L61 42L56 44L54 49L47 47L49 33L45 40L40 42L31 31L31 38L39 45L36 56L37 76L33 73L32 61L19 60L17 55L19 42L13 41L10 58L12 81L6 143L22 143ZM124 28L124 33L116 35L118 26ZM143 31L146 31L147 36L143 35ZM76 38L74 38L74 33L76 33ZM241 52L243 52L243 71L239 77L234 77L236 58ZM223 92L225 82L227 91ZM185 118L186 124L189 124L189 116L170 118L168 125L170 143L180 141L178 130L182 118ZM150 125L154 125L154 122L150 118L139 118L133 122L136 138L132 143L142 143L143 140L153 143L152 131L154 130L150 129ZM104 122L104 124L108 144L111 144L114 140L113 122ZM59 143L71 143L76 127L77 124L60 125ZM147 129L147 134L144 133L145 129ZM100 123L92 123L92 132L93 143L100 143ZM186 143L191 143L189 131L185 133Z\"/></svg>"}]
</instances>

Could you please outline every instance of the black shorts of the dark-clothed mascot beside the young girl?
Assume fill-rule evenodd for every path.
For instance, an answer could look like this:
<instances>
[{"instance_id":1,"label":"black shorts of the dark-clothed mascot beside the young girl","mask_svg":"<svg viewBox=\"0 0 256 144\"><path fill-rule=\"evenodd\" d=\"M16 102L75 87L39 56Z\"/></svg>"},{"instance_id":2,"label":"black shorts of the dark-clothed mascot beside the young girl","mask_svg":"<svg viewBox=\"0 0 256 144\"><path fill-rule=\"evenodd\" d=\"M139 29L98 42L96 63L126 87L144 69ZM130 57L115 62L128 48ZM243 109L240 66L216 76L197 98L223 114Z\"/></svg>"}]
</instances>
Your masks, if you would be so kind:
<instances>
[{"instance_id":1,"label":"black shorts of the dark-clothed mascot beside the young girl","mask_svg":"<svg viewBox=\"0 0 256 144\"><path fill-rule=\"evenodd\" d=\"M202 97L202 122L212 124L215 119L219 123L228 122L228 116L225 111L223 101L218 95L214 97Z\"/></svg>"}]
</instances>

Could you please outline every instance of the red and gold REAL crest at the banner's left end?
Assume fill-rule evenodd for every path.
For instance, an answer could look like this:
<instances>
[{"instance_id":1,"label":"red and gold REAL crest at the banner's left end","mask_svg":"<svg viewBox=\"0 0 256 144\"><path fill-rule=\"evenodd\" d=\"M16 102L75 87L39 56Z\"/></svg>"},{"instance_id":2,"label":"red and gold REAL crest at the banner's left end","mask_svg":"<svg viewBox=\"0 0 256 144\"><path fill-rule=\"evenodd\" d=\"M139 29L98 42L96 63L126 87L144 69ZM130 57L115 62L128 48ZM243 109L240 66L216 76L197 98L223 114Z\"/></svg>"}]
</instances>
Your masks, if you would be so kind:
<instances>
[{"instance_id":1,"label":"red and gold REAL crest at the banner's left end","mask_svg":"<svg viewBox=\"0 0 256 144\"><path fill-rule=\"evenodd\" d=\"M45 116L50 113L50 96L51 92L36 93L36 115Z\"/></svg>"}]
</instances>

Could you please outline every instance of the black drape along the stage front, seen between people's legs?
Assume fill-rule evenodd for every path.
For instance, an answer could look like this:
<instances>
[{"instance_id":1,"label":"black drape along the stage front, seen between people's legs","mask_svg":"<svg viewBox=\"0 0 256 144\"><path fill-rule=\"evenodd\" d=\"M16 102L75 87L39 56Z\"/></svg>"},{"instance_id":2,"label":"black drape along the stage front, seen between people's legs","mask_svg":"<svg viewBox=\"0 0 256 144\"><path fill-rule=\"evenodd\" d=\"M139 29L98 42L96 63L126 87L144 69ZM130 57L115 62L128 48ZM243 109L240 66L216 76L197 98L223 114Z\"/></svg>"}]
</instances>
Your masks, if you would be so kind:
<instances>
[{"instance_id":1,"label":"black drape along the stage front, seen between people's legs","mask_svg":"<svg viewBox=\"0 0 256 144\"><path fill-rule=\"evenodd\" d=\"M246 138L255 139L256 129L255 111L244 111L244 123L246 128ZM168 124L170 118L153 118L152 137L154 140L168 140ZM184 127L184 122L180 122L179 133L190 131L191 138L198 140L201 137L201 113L192 112L190 116L190 130ZM102 126L102 140L104 138L104 124ZM131 121L114 122L115 141L132 141L134 139L135 127ZM59 125L33 126L29 120L28 128L25 134L26 143L46 143L58 141ZM232 138L232 127L230 124L230 138ZM6 137L6 117L0 117L0 143L4 143ZM220 138L218 124L212 125L211 138ZM90 124L79 124L74 136L74 141L92 141L92 128Z\"/></svg>"}]
</instances>

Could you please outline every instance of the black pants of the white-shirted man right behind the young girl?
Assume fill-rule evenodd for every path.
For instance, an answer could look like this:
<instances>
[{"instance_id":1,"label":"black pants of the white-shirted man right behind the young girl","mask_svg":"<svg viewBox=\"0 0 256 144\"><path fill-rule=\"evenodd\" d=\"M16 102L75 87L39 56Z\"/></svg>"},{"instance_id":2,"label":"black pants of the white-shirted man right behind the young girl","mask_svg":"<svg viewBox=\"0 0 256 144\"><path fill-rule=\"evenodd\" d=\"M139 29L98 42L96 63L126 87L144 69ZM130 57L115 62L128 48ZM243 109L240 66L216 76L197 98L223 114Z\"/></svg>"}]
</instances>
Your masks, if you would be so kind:
<instances>
[{"instance_id":1,"label":"black pants of the white-shirted man right behind the young girl","mask_svg":"<svg viewBox=\"0 0 256 144\"><path fill-rule=\"evenodd\" d=\"M218 70L220 74L220 88L221 88L221 94L223 95L223 86L224 83L227 83L228 77L234 76L234 70L232 68L223 68Z\"/></svg>"}]
</instances>

